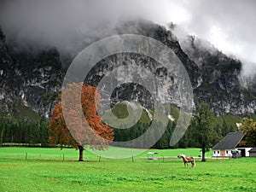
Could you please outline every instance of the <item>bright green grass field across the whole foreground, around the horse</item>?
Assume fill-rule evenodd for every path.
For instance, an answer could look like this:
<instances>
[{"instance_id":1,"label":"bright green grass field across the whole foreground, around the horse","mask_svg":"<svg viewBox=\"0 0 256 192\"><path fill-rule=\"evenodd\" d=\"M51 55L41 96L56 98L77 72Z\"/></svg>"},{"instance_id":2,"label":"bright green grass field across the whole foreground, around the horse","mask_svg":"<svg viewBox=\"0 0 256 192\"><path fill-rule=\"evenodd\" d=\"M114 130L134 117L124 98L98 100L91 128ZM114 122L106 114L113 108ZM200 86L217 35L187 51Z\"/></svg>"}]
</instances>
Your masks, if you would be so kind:
<instances>
[{"instance_id":1,"label":"bright green grass field across the whole foreground, around the horse","mask_svg":"<svg viewBox=\"0 0 256 192\"><path fill-rule=\"evenodd\" d=\"M184 168L167 157L197 156L198 148L150 151L165 159L150 161L144 152L133 162L99 162L85 151L78 162L79 152L70 148L0 148L0 191L256 191L256 158L198 159L195 168Z\"/></svg>"}]
</instances>

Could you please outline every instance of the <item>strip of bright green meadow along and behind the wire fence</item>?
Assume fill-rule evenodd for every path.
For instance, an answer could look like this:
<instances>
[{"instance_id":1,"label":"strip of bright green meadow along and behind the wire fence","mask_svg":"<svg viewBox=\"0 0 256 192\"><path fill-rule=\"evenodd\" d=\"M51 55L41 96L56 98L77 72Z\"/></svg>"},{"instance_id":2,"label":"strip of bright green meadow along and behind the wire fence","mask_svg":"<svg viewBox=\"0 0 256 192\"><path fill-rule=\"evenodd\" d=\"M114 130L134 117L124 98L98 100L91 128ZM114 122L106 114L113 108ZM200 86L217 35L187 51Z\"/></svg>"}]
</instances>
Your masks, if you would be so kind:
<instances>
[{"instance_id":1,"label":"strip of bright green meadow along and behind the wire fence","mask_svg":"<svg viewBox=\"0 0 256 192\"><path fill-rule=\"evenodd\" d=\"M14 143L15 144L15 143ZM187 154L188 156L193 156L196 161L201 160L200 148L177 148L177 149L148 149L147 151L143 150L140 153L140 149L127 149L127 148L110 148L110 154L120 154L121 152L131 153L131 156L126 159L111 159L105 158L104 153L106 151L102 151L102 153L92 153L90 150L84 150L84 161L114 161L114 160L122 160L122 161L175 161L179 160L177 158L178 154ZM127 151L128 150L128 151ZM126 154L127 154L126 153ZM132 155L133 153L138 155ZM212 153L206 154L207 159L212 158ZM118 158L119 155L116 156ZM0 160L58 160L58 161L78 161L79 160L79 150L75 150L74 148L28 148L28 147L4 147L0 148ZM220 158L219 158L220 159Z\"/></svg>"}]
</instances>

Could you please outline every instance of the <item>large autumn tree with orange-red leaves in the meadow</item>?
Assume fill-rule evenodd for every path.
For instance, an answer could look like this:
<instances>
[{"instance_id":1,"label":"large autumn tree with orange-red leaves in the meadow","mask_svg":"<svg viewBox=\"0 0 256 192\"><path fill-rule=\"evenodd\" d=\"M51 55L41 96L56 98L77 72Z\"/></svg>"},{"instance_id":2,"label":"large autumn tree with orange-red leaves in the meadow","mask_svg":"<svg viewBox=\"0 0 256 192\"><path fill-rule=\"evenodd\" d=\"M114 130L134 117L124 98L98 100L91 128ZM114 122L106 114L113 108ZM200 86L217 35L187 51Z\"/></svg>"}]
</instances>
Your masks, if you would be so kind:
<instances>
[{"instance_id":1,"label":"large autumn tree with orange-red leaves in the meadow","mask_svg":"<svg viewBox=\"0 0 256 192\"><path fill-rule=\"evenodd\" d=\"M79 149L79 161L84 160L85 146L99 150L108 148L113 141L113 129L103 124L96 112L101 100L96 87L69 84L59 97L62 101L55 105L48 126L50 143Z\"/></svg>"}]
</instances>

